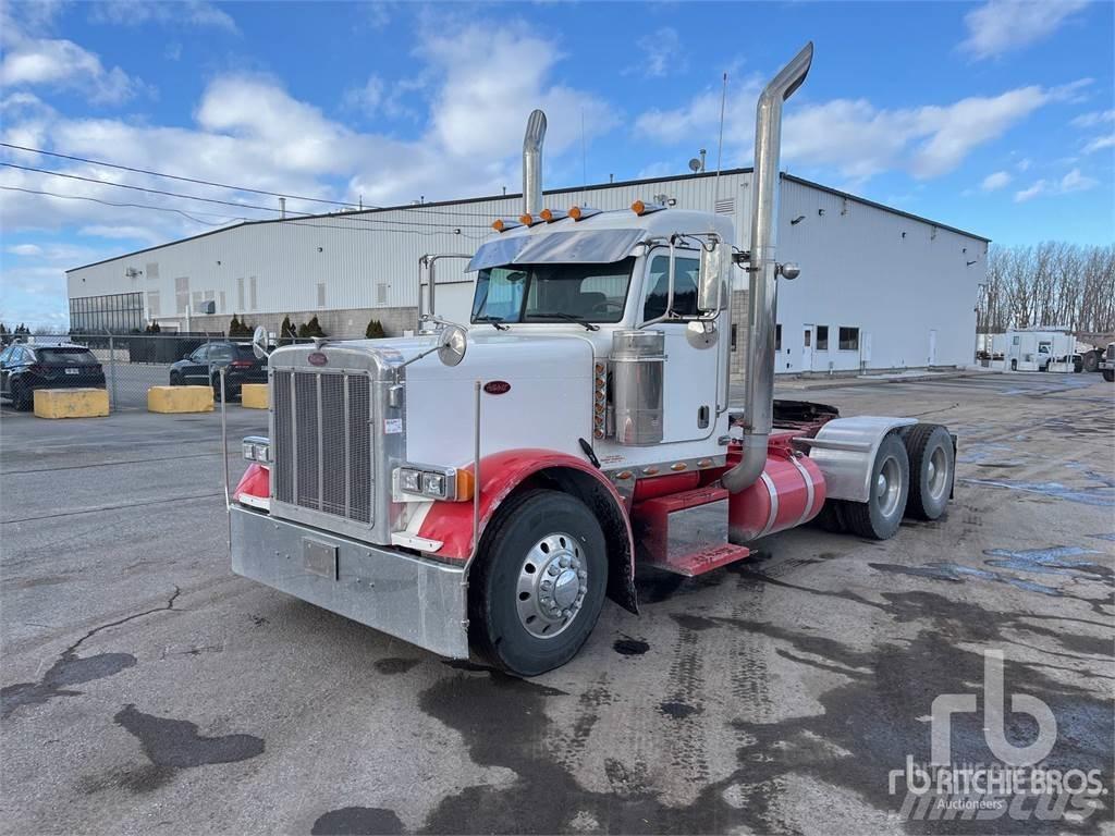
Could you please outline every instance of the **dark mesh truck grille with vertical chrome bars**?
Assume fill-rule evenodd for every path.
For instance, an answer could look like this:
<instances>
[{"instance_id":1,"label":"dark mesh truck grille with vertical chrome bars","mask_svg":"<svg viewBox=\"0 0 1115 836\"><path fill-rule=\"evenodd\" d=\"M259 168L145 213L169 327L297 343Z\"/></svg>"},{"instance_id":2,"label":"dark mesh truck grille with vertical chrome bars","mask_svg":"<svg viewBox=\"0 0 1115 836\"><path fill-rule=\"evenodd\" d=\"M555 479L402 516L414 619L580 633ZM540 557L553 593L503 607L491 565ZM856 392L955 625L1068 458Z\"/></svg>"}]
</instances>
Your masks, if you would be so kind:
<instances>
[{"instance_id":1,"label":"dark mesh truck grille with vertical chrome bars","mask_svg":"<svg viewBox=\"0 0 1115 836\"><path fill-rule=\"evenodd\" d=\"M367 375L275 371L275 499L371 525L371 386Z\"/></svg>"}]
</instances>

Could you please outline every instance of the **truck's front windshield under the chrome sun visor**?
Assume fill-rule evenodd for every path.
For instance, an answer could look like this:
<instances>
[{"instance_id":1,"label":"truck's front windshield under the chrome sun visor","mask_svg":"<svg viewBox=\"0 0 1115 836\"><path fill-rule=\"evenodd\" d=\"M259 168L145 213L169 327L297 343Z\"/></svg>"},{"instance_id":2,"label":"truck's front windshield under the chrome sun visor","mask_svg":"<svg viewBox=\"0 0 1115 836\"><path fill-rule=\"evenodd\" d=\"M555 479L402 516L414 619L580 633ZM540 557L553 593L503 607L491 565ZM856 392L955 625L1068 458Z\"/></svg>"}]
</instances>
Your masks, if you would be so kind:
<instances>
[{"instance_id":1,"label":"truck's front windshield under the chrome sun visor","mask_svg":"<svg viewBox=\"0 0 1115 836\"><path fill-rule=\"evenodd\" d=\"M619 322L634 259L613 264L516 264L476 279L473 322Z\"/></svg>"}]
</instances>

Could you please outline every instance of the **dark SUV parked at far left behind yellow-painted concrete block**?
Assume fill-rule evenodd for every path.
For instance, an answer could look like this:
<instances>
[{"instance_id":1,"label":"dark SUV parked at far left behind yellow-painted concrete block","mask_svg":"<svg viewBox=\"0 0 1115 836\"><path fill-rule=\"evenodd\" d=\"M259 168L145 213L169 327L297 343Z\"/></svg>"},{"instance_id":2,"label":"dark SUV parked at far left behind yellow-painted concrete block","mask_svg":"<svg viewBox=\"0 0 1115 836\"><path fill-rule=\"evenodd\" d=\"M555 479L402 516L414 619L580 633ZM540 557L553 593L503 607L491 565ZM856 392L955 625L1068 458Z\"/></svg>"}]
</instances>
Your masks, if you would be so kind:
<instances>
[{"instance_id":1,"label":"dark SUV parked at far left behind yellow-painted concrete block","mask_svg":"<svg viewBox=\"0 0 1115 836\"><path fill-rule=\"evenodd\" d=\"M0 397L16 409L30 409L36 389L77 388L105 388L105 370L85 346L12 343L0 352Z\"/></svg>"}]
</instances>

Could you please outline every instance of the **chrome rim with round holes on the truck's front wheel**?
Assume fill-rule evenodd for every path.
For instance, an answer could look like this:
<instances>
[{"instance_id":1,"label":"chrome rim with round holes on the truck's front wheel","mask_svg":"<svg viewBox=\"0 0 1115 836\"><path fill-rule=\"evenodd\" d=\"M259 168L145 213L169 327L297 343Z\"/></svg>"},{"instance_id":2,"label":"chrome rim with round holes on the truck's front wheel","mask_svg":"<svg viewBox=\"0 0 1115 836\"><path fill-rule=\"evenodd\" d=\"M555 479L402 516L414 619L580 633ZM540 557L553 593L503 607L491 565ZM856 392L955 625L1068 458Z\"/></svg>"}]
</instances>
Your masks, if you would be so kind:
<instances>
[{"instance_id":1,"label":"chrome rim with round holes on the truck's front wheel","mask_svg":"<svg viewBox=\"0 0 1115 836\"><path fill-rule=\"evenodd\" d=\"M553 639L576 620L588 592L584 546L565 532L547 534L526 553L518 568L518 622L536 639Z\"/></svg>"}]
</instances>

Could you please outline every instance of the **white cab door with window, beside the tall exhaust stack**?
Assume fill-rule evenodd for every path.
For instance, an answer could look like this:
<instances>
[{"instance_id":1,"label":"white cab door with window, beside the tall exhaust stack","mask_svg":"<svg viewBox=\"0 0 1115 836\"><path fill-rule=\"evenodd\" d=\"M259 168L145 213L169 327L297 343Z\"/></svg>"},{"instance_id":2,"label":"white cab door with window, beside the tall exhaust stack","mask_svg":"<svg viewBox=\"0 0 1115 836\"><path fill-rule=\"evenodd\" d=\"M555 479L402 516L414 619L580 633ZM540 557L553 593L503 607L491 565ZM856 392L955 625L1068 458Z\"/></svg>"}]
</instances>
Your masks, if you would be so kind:
<instances>
[{"instance_id":1,"label":"white cab door with window, beside the tall exhaust stack","mask_svg":"<svg viewBox=\"0 0 1115 836\"><path fill-rule=\"evenodd\" d=\"M697 279L700 256L695 250L675 251L673 312L697 315ZM647 259L640 323L666 312L669 294L670 251L659 247ZM640 327L642 327L640 324ZM688 322L656 322L648 329L666 334L666 369L662 398L662 441L694 441L708 438L716 427L717 381L720 375L718 340L709 343L691 339Z\"/></svg>"}]
</instances>

